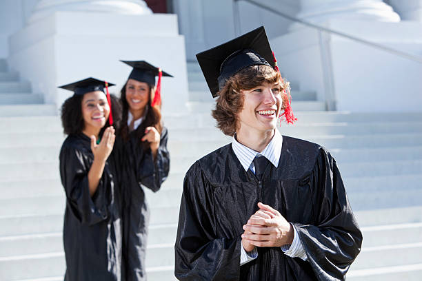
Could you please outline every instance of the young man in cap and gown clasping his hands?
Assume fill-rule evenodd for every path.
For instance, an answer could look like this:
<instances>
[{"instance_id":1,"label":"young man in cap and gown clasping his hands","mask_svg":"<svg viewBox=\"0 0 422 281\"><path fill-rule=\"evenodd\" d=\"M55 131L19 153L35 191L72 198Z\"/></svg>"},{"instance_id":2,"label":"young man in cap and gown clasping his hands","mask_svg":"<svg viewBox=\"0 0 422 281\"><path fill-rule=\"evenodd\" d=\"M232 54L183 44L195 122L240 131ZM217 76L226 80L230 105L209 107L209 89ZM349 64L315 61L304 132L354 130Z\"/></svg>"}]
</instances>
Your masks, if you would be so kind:
<instances>
[{"instance_id":1,"label":"young man in cap and gown clasping his hands","mask_svg":"<svg viewBox=\"0 0 422 281\"><path fill-rule=\"evenodd\" d=\"M276 128L281 112L292 115L265 30L197 58L218 96L212 116L233 141L185 176L176 277L344 280L361 231L330 153Z\"/></svg>"}]
</instances>

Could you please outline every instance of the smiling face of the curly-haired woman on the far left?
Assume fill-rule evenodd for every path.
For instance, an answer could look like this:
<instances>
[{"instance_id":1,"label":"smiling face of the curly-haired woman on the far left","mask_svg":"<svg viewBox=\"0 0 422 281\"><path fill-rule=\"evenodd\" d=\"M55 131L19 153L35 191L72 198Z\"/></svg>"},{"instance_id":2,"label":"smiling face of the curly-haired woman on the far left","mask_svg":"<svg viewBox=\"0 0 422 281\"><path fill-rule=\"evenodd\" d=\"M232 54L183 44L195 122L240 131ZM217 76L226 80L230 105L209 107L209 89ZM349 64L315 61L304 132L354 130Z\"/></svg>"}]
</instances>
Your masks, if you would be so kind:
<instances>
[{"instance_id":1,"label":"smiling face of the curly-haired woman on the far left","mask_svg":"<svg viewBox=\"0 0 422 281\"><path fill-rule=\"evenodd\" d=\"M82 98L84 130L97 131L106 125L110 114L107 96L101 91L88 92Z\"/></svg>"}]
</instances>

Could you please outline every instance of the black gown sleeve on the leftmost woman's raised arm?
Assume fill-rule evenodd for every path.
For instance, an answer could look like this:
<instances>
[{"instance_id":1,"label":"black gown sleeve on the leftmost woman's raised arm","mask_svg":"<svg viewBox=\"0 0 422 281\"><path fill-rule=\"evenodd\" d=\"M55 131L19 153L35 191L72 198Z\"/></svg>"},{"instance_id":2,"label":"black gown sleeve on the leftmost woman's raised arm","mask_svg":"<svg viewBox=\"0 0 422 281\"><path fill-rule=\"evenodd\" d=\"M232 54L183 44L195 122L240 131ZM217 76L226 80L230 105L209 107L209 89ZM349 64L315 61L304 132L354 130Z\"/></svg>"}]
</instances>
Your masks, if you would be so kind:
<instances>
[{"instance_id":1,"label":"black gown sleeve on the leftmost woman's raised arm","mask_svg":"<svg viewBox=\"0 0 422 281\"><path fill-rule=\"evenodd\" d=\"M82 224L94 225L108 217L107 175L103 173L94 196L90 196L88 171L92 164L83 148L63 145L60 152L61 183L68 207Z\"/></svg>"}]
</instances>

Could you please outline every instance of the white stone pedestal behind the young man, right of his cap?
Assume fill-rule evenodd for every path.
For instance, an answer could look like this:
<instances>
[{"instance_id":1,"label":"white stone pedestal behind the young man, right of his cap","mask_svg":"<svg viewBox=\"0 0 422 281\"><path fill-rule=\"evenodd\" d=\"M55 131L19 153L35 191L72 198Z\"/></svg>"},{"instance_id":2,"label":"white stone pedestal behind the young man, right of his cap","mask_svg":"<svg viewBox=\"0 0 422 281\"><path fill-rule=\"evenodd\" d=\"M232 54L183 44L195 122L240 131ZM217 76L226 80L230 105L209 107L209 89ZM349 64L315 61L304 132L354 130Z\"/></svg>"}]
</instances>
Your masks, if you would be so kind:
<instances>
[{"instance_id":1,"label":"white stone pedestal behind the young man, right of his cap","mask_svg":"<svg viewBox=\"0 0 422 281\"><path fill-rule=\"evenodd\" d=\"M333 19L328 27L422 56L422 25L418 22ZM403 112L422 108L422 63L310 28L270 43L285 77L300 81L301 90L316 90L319 101L334 99L337 110Z\"/></svg>"}]
</instances>

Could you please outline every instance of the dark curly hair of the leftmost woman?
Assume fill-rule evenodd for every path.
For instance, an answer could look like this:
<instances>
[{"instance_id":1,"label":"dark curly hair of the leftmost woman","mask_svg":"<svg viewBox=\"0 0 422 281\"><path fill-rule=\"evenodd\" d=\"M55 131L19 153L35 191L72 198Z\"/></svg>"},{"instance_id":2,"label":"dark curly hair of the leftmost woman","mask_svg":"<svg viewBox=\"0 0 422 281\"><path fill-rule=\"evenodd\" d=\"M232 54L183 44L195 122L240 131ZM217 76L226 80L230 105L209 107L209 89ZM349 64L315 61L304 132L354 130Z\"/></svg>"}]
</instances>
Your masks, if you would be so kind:
<instances>
[{"instance_id":1,"label":"dark curly hair of the leftmost woman","mask_svg":"<svg viewBox=\"0 0 422 281\"><path fill-rule=\"evenodd\" d=\"M83 131L82 98L83 95L73 95L61 105L61 125L63 125L65 134L81 134ZM110 94L110 100L112 103L113 127L118 130L121 125L121 104L119 98L114 94ZM106 125L101 128L99 136L102 136L104 130L109 126L110 123L107 120Z\"/></svg>"}]
</instances>

